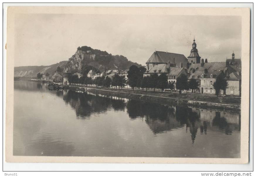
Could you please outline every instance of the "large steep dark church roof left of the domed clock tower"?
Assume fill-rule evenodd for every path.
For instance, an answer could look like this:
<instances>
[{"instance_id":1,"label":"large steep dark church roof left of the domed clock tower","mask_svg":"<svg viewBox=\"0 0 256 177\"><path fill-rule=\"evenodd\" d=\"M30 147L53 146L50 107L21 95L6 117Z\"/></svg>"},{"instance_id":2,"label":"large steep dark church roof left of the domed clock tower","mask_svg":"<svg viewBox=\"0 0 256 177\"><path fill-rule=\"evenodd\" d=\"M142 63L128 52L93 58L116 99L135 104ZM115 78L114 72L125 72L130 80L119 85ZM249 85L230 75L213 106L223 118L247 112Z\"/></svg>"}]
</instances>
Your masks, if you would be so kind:
<instances>
[{"instance_id":1,"label":"large steep dark church roof left of the domed clock tower","mask_svg":"<svg viewBox=\"0 0 256 177\"><path fill-rule=\"evenodd\" d=\"M168 61L170 61L170 63L176 63L177 65L179 65L179 62L182 62L183 67L187 67L188 63L188 59L182 54L161 51L155 51L146 63L168 63Z\"/></svg>"}]
</instances>

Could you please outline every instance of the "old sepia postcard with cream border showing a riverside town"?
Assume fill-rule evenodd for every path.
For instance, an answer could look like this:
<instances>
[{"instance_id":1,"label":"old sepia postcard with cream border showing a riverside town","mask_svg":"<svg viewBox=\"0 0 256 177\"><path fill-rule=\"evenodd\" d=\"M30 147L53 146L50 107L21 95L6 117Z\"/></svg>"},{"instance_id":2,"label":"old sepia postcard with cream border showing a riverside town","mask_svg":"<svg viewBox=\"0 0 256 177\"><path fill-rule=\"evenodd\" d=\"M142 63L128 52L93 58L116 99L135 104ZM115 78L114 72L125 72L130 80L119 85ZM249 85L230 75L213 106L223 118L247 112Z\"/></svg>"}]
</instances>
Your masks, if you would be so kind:
<instances>
[{"instance_id":1,"label":"old sepia postcard with cream border showing a riverside town","mask_svg":"<svg viewBox=\"0 0 256 177\"><path fill-rule=\"evenodd\" d=\"M248 163L249 8L9 7L7 162Z\"/></svg>"}]
</instances>

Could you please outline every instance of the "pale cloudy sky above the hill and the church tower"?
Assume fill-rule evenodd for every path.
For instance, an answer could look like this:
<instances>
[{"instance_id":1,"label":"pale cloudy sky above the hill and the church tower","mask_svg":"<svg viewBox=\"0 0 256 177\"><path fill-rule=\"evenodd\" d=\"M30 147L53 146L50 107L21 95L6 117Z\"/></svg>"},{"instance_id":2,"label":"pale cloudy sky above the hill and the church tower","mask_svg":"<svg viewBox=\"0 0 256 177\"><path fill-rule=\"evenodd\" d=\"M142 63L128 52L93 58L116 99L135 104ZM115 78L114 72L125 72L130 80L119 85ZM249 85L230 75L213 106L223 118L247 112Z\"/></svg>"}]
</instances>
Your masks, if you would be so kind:
<instances>
[{"instance_id":1,"label":"pale cloudy sky above the hill and the church tower","mask_svg":"<svg viewBox=\"0 0 256 177\"><path fill-rule=\"evenodd\" d=\"M194 36L201 58L224 62L241 57L241 28L240 16L19 14L14 65L55 64L84 45L145 65L155 50L188 57Z\"/></svg>"}]
</instances>

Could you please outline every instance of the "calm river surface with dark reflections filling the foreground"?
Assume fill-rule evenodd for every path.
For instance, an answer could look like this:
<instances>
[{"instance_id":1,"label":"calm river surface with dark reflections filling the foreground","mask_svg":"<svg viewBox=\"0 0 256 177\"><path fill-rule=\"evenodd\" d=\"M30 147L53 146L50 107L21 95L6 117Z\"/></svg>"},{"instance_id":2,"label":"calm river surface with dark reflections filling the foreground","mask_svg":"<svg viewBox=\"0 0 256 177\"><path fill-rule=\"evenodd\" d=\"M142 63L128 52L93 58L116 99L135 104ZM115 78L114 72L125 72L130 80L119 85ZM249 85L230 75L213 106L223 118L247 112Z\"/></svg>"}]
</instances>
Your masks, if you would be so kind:
<instances>
[{"instance_id":1,"label":"calm river surface with dark reflections filling the foreground","mask_svg":"<svg viewBox=\"0 0 256 177\"><path fill-rule=\"evenodd\" d=\"M240 157L240 113L14 81L13 155Z\"/></svg>"}]
</instances>

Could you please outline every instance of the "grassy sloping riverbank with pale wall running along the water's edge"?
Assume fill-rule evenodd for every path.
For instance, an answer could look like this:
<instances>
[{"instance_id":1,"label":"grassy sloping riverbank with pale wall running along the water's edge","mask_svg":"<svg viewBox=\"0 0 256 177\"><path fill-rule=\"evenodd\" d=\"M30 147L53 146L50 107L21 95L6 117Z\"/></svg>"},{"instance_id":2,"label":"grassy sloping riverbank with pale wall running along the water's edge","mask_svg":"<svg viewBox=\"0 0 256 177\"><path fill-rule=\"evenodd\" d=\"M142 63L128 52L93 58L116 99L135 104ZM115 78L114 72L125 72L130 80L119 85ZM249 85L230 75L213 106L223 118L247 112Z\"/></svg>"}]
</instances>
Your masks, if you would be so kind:
<instances>
[{"instance_id":1,"label":"grassy sloping riverbank with pale wall running along the water's edge","mask_svg":"<svg viewBox=\"0 0 256 177\"><path fill-rule=\"evenodd\" d=\"M232 110L240 111L240 104L223 103L220 101L222 97L216 96L202 96L200 94L177 94L167 92L153 92L153 91L133 91L130 89L111 89L111 88L91 88L82 86L65 86L66 88L86 88L88 92L94 94L102 94L106 96L117 96L128 99L140 100L143 102L160 103L167 105L186 105L196 108L211 108L218 110ZM153 93L152 93L153 92ZM230 97L229 97L230 98Z\"/></svg>"}]
</instances>

